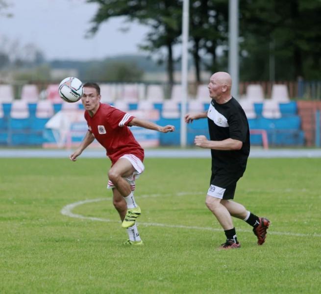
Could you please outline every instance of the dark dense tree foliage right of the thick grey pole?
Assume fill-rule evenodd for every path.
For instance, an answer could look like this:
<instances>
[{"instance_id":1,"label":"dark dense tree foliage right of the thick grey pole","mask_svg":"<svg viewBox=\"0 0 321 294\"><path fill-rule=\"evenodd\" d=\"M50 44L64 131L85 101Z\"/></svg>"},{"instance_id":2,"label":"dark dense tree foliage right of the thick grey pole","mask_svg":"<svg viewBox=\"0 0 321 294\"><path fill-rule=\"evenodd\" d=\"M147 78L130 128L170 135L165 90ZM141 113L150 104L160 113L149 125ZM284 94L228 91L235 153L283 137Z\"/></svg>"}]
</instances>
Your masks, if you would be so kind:
<instances>
[{"instance_id":1,"label":"dark dense tree foliage right of the thick grey pole","mask_svg":"<svg viewBox=\"0 0 321 294\"><path fill-rule=\"evenodd\" d=\"M247 53L243 65L260 60L256 69L249 69L252 78L262 69L267 76L269 55L275 59L277 79L321 77L321 20L316 17L321 1L245 0L240 9L241 46Z\"/></svg>"}]
</instances>

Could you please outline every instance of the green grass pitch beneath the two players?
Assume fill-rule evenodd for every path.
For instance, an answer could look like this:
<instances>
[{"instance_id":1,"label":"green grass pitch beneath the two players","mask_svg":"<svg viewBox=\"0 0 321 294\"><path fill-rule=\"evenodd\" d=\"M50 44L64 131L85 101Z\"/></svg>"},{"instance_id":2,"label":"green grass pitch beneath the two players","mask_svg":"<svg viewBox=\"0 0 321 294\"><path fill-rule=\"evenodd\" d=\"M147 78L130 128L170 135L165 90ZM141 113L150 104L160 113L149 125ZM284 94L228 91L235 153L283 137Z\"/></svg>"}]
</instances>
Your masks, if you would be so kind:
<instances>
[{"instance_id":1,"label":"green grass pitch beneath the two players","mask_svg":"<svg viewBox=\"0 0 321 294\"><path fill-rule=\"evenodd\" d=\"M235 200L272 223L258 246L235 220L235 250L217 250L225 237L204 204L209 159L146 159L135 192L142 247L122 245L109 166L0 159L1 294L320 291L321 159L249 159ZM86 199L100 200L74 207L83 219L61 214Z\"/></svg>"}]
</instances>

